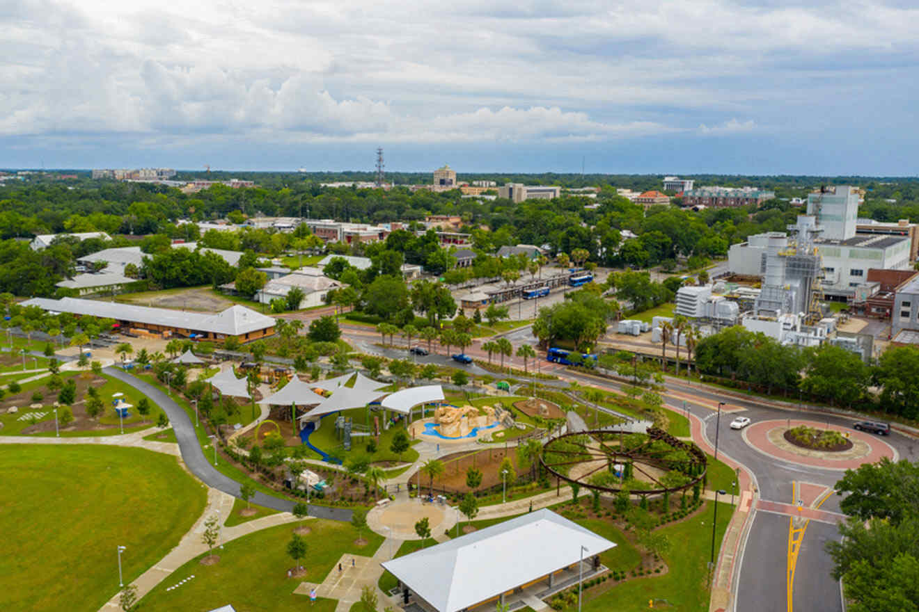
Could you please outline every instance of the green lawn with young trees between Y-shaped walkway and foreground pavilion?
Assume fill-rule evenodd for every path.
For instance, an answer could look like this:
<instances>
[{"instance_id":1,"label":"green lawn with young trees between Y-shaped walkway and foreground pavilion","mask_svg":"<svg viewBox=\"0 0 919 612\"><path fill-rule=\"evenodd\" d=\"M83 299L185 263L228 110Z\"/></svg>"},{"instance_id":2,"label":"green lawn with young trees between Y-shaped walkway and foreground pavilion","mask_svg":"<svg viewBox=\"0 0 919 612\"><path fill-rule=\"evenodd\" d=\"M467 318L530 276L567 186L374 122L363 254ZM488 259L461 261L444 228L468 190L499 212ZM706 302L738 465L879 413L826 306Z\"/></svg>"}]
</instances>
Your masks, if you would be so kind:
<instances>
[{"instance_id":1,"label":"green lawn with young trees between Y-shaped walkway and foreground pavilion","mask_svg":"<svg viewBox=\"0 0 919 612\"><path fill-rule=\"evenodd\" d=\"M205 612L231 604L241 612L332 612L335 600L319 598L310 606L308 595L293 595L293 590L303 581L321 583L330 571L337 572L335 563L343 554L372 555L383 539L364 529L363 537L369 543L358 547L354 543L357 530L348 523L313 519L309 526L312 533L305 536L309 549L302 561L307 570L303 578L287 577L294 566L286 551L294 526L279 525L227 542L215 551L221 560L214 565L201 565L200 557L187 562L143 597L140 610ZM192 574L195 577L186 584L166 591Z\"/></svg>"}]
</instances>

